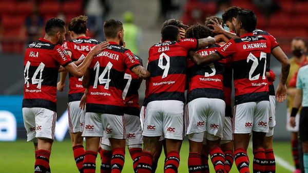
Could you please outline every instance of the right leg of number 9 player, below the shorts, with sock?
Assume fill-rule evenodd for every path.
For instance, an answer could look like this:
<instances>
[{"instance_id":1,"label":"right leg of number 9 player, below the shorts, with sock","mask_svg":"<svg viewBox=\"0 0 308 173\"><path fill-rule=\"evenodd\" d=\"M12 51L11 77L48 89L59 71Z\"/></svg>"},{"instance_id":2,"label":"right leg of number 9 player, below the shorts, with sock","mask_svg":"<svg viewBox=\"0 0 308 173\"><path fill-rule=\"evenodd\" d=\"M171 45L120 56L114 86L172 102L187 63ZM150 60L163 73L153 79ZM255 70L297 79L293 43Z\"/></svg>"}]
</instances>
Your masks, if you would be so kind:
<instances>
[{"instance_id":1,"label":"right leg of number 9 player, below the shorts, with sock","mask_svg":"<svg viewBox=\"0 0 308 173\"><path fill-rule=\"evenodd\" d=\"M166 153L167 157L165 160L165 173L178 172L180 164L180 149L182 140L166 139Z\"/></svg>"}]
</instances>

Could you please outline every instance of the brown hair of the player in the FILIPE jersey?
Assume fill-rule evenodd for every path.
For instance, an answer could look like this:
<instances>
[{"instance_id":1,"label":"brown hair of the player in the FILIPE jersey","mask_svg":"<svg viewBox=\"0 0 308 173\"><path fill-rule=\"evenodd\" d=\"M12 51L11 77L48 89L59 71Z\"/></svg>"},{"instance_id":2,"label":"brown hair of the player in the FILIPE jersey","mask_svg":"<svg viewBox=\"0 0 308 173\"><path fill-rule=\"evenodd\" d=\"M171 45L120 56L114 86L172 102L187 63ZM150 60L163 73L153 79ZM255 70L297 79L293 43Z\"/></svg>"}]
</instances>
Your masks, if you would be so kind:
<instances>
[{"instance_id":1,"label":"brown hair of the player in the FILIPE jersey","mask_svg":"<svg viewBox=\"0 0 308 173\"><path fill-rule=\"evenodd\" d=\"M84 15L72 18L68 24L68 30L76 34L85 34L87 31L87 19L88 17Z\"/></svg>"}]
</instances>

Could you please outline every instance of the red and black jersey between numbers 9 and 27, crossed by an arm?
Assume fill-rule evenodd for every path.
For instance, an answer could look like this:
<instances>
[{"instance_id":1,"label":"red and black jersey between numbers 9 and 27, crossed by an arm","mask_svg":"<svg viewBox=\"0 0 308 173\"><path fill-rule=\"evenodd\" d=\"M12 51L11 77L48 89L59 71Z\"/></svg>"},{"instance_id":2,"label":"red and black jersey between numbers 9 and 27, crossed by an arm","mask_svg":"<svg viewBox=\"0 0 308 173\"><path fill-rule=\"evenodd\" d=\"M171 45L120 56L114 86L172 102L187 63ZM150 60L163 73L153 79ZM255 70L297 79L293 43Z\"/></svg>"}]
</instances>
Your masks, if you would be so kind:
<instances>
[{"instance_id":1,"label":"red and black jersey between numbers 9 and 27, crossed by an arm","mask_svg":"<svg viewBox=\"0 0 308 173\"><path fill-rule=\"evenodd\" d=\"M212 45L197 51L201 56L214 53L219 45ZM224 99L223 94L223 73L225 59L210 63L201 67L187 58L187 75L189 78L187 101L196 98L218 98Z\"/></svg>"}]
</instances>

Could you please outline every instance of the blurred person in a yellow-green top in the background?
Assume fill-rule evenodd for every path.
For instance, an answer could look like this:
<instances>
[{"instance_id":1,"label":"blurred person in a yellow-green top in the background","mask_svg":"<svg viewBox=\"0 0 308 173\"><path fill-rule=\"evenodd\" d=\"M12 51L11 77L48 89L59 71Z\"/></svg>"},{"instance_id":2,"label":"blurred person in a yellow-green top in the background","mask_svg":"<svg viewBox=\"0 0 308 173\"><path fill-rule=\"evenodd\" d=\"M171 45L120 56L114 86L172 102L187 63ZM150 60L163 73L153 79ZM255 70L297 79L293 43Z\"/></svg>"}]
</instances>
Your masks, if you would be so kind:
<instances>
[{"instance_id":1,"label":"blurred person in a yellow-green top in the background","mask_svg":"<svg viewBox=\"0 0 308 173\"><path fill-rule=\"evenodd\" d=\"M141 40L141 29L137 25L133 24L133 14L130 11L124 13L123 19L125 48L129 49L135 55L138 55L138 47Z\"/></svg>"}]
</instances>

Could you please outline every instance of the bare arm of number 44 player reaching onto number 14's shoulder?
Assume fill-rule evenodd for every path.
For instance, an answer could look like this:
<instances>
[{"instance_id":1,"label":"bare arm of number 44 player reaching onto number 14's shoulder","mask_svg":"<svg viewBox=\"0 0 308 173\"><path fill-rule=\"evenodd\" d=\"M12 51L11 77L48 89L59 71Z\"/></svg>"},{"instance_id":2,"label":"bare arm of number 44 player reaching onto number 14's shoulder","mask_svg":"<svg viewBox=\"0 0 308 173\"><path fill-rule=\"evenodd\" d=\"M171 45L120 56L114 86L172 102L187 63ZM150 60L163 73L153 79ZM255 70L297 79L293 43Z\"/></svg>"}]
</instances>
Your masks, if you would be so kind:
<instances>
[{"instance_id":1,"label":"bare arm of number 44 player reaching onto number 14's shoulder","mask_svg":"<svg viewBox=\"0 0 308 173\"><path fill-rule=\"evenodd\" d=\"M88 67L90 66L90 63L92 59L97 56L102 50L106 49L109 46L109 42L103 41L99 45L94 46L93 49L87 54L84 61L79 65L76 66L75 63L69 63L67 66L65 66L65 69L71 73L74 77L81 78Z\"/></svg>"}]
</instances>

